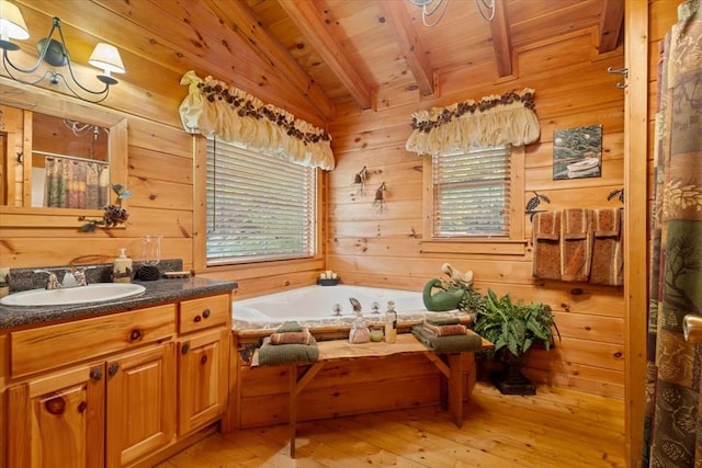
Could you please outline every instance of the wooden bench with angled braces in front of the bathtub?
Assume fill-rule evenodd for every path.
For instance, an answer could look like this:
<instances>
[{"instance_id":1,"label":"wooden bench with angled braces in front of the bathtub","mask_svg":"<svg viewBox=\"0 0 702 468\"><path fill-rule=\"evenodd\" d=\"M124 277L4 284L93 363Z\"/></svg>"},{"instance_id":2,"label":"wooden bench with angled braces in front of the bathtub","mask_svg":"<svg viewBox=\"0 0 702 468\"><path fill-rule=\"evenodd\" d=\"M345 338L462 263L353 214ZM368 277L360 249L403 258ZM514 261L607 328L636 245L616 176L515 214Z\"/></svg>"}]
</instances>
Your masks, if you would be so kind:
<instances>
[{"instance_id":1,"label":"wooden bench with angled braces in front of the bathtub","mask_svg":"<svg viewBox=\"0 0 702 468\"><path fill-rule=\"evenodd\" d=\"M468 330L468 333L473 331ZM295 458L295 438L297 421L297 397L315 378L327 363L355 359L361 357L386 357L394 354L423 354L444 377L448 387L446 407L455 424L463 425L463 361L462 353L438 354L428 350L411 333L397 335L395 343L370 342L349 343L348 340L330 340L317 343L319 358L315 363L293 363L287 365L290 374L290 456ZM483 339L483 350L492 347L492 343ZM258 366L258 352L251 366Z\"/></svg>"}]
</instances>

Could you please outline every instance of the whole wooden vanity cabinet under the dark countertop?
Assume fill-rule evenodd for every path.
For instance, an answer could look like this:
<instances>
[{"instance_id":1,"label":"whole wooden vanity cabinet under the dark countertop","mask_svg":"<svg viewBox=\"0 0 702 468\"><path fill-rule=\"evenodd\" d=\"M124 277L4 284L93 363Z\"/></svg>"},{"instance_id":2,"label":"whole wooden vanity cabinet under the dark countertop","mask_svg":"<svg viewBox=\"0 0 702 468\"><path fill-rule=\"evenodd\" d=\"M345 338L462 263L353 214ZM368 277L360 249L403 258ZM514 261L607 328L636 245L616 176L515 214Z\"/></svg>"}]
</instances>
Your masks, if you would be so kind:
<instances>
[{"instance_id":1,"label":"whole wooden vanity cabinet under the dark countertop","mask_svg":"<svg viewBox=\"0 0 702 468\"><path fill-rule=\"evenodd\" d=\"M230 294L9 331L0 467L157 460L225 413L229 340Z\"/></svg>"}]
</instances>

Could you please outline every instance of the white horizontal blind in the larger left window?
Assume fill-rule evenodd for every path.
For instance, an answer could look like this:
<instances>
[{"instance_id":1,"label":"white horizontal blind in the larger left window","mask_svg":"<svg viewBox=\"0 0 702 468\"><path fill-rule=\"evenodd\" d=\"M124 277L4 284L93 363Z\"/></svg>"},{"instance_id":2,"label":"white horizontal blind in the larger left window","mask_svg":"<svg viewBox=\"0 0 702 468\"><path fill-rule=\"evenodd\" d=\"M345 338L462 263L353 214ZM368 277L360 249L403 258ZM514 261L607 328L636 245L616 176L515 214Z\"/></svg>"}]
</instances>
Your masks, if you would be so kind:
<instances>
[{"instance_id":1,"label":"white horizontal blind in the larger left window","mask_svg":"<svg viewBox=\"0 0 702 468\"><path fill-rule=\"evenodd\" d=\"M315 253L317 171L207 138L207 264Z\"/></svg>"}]
</instances>

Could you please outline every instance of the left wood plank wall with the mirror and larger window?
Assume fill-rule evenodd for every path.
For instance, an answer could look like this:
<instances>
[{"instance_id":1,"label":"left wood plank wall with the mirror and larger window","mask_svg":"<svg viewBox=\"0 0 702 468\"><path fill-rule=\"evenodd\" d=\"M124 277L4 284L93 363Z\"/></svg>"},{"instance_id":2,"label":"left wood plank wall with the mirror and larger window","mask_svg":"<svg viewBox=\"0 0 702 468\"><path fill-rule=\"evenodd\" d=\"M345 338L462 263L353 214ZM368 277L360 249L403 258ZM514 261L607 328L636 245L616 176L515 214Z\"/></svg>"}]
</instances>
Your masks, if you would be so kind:
<instances>
[{"instance_id":1,"label":"left wood plank wall with the mirror and larger window","mask_svg":"<svg viewBox=\"0 0 702 468\"><path fill-rule=\"evenodd\" d=\"M22 55L29 50L29 56L14 58L21 65L26 66L25 61L35 57L31 45L48 30L55 15L61 19L79 77L92 79L94 76L94 71L80 64L87 62L97 42L106 41L120 48L127 72L116 77L120 84L113 87L101 105L127 116L128 180L122 183L126 182L133 197L128 201L129 220L126 228L121 229L82 233L73 228L48 225L13 228L0 224L1 266L107 263L123 247L134 260L139 260L141 237L157 233L163 236L162 258L182 259L185 270L203 264L194 260L200 254L195 238L204 232L204 226L195 226L202 213L202 198L195 195L199 187L195 187L194 174L199 164L193 137L182 129L178 114L186 93L186 88L179 82L188 70L239 83L265 102L322 125L310 104L303 102L299 93L286 91L284 80L275 76L270 65L261 64L254 53L245 47L224 49L213 32L222 34L230 44L237 43L236 33L223 32L225 26L219 19L202 5L192 3L183 12L173 9L182 7L173 2L140 1L138 9L102 0L58 3L16 0L15 3L22 9L32 34L31 44L16 53ZM154 18L158 18L158 22ZM191 22L196 23L195 26ZM179 39L172 43L161 39L161 33L166 32ZM227 75L230 76L227 78ZM218 267L208 272L200 269L197 274L238 281L237 294L251 296L312 284L321 270L324 258L319 255L306 261Z\"/></svg>"}]
</instances>

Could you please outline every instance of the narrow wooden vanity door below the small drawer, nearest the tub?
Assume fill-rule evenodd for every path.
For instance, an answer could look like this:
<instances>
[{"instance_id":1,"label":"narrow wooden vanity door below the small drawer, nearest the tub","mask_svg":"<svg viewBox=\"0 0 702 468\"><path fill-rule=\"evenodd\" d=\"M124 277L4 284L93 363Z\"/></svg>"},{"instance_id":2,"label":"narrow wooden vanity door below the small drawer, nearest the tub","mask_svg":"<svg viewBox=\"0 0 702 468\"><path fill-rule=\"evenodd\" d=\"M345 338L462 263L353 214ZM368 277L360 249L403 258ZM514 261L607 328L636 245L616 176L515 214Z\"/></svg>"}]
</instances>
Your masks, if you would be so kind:
<instances>
[{"instance_id":1,"label":"narrow wooden vanity door below the small drawer, nearest the tub","mask_svg":"<svg viewBox=\"0 0 702 468\"><path fill-rule=\"evenodd\" d=\"M179 435L224 413L227 403L229 335L228 329L217 329L179 342Z\"/></svg>"}]
</instances>

